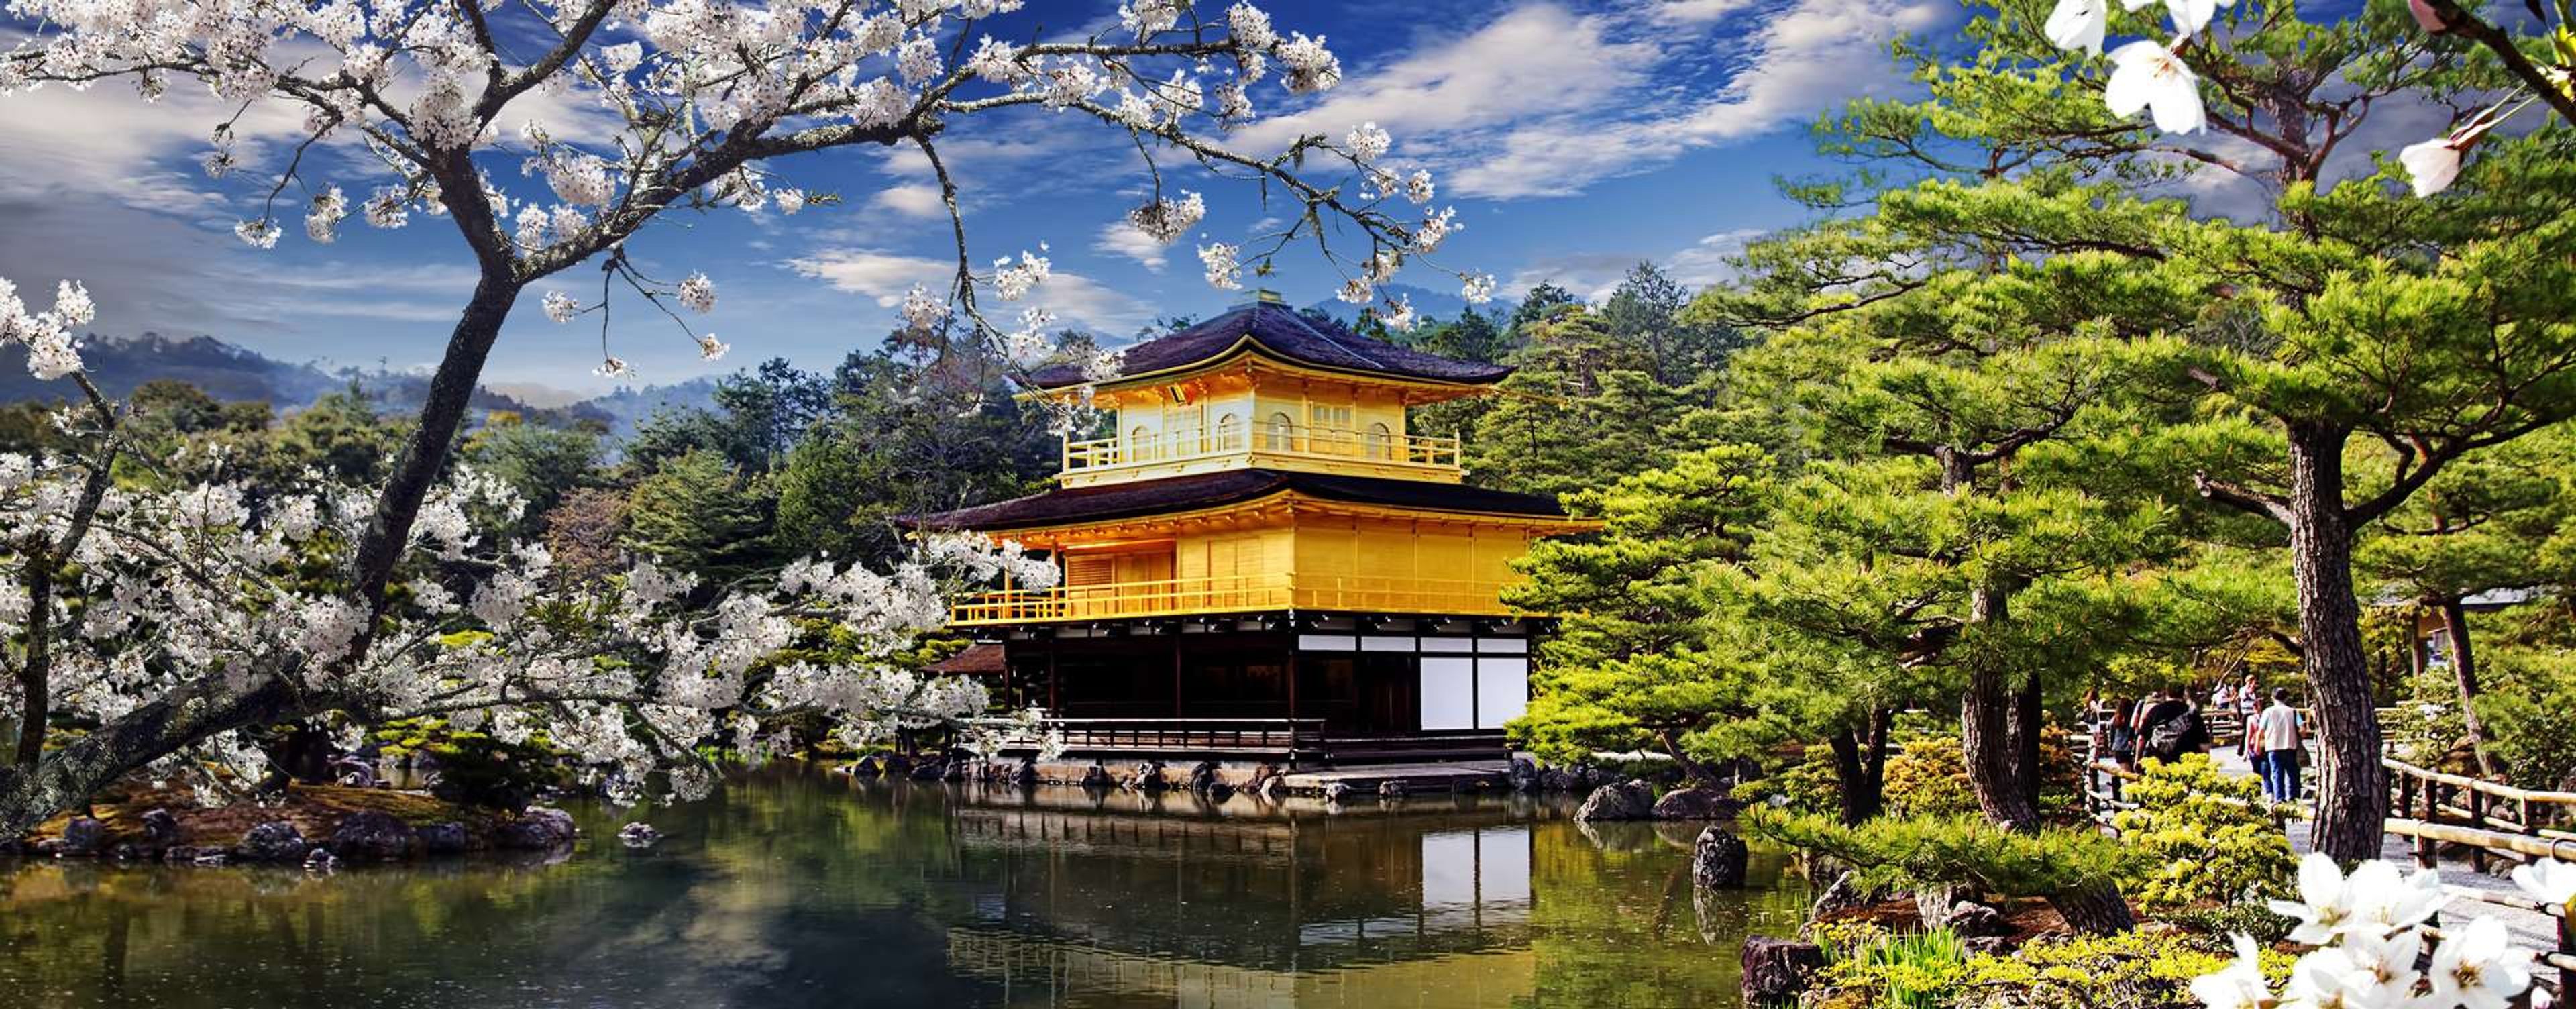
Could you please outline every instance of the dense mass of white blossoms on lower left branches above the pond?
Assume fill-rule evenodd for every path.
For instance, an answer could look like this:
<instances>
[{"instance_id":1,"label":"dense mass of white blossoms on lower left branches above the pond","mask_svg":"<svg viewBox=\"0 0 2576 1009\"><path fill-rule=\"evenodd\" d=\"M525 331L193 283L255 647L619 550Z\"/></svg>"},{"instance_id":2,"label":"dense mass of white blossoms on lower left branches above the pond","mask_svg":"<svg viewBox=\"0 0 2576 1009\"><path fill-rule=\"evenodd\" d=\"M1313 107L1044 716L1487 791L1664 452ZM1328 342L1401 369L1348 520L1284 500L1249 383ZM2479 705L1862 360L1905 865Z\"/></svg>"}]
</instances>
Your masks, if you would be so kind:
<instances>
[{"instance_id":1,"label":"dense mass of white blossoms on lower left branches above the pond","mask_svg":"<svg viewBox=\"0 0 2576 1009\"><path fill-rule=\"evenodd\" d=\"M59 342L90 314L75 283L31 314L0 281L8 340ZM544 731L616 795L690 795L714 780L698 746L729 739L757 759L778 752L786 718L817 718L855 746L961 726L992 749L997 734L1036 728L1033 713L989 718L974 682L894 659L948 620L953 592L1054 584L1054 564L1015 543L927 535L886 571L804 559L726 587L647 556L577 577L513 533L526 504L505 481L459 468L420 502L402 582L374 605L330 574L355 571L376 486L322 471L250 484L206 453L100 481L113 425L64 430L67 456L0 453L0 638L52 641L54 713L113 723L180 690L242 692L273 677L343 726L443 716L505 741ZM31 564L54 569L44 595ZM817 641L829 662L781 662ZM0 692L0 718L23 716L21 703ZM240 731L193 741L157 770L204 777L209 798L265 775Z\"/></svg>"}]
</instances>

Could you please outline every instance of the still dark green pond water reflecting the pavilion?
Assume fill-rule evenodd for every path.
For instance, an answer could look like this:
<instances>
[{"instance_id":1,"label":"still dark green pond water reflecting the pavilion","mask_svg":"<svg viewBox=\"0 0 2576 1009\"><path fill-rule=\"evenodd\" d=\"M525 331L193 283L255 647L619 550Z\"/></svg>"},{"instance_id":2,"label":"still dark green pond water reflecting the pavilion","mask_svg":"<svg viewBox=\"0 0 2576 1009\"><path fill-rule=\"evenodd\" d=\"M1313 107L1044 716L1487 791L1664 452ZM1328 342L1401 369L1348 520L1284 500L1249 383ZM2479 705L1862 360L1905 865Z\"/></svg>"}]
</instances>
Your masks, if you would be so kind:
<instances>
[{"instance_id":1,"label":"still dark green pond water reflecting the pavilion","mask_svg":"<svg viewBox=\"0 0 2576 1009\"><path fill-rule=\"evenodd\" d=\"M1211 806L781 764L554 865L0 860L0 1006L1734 1006L1803 883L1507 795ZM616 826L670 837L644 852Z\"/></svg>"}]
</instances>

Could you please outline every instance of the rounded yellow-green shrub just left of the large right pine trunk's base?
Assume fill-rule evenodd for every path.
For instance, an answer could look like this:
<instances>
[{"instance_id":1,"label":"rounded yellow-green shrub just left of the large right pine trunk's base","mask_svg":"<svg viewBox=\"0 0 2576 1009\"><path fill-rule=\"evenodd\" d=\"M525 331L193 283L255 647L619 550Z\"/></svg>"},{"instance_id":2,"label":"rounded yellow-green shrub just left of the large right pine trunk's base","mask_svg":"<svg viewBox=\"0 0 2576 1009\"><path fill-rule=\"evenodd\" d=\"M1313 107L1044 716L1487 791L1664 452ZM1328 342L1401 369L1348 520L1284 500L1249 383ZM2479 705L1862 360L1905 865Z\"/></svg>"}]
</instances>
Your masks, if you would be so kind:
<instances>
[{"instance_id":1,"label":"rounded yellow-green shrub just left of the large right pine trunk's base","mask_svg":"<svg viewBox=\"0 0 2576 1009\"><path fill-rule=\"evenodd\" d=\"M2290 896L2298 857L2285 813L2262 801L2254 777L2223 775L2205 754L2148 759L2128 785L2138 808L2112 816L2120 842L2141 860L2120 888L2143 909L2241 903Z\"/></svg>"}]
</instances>

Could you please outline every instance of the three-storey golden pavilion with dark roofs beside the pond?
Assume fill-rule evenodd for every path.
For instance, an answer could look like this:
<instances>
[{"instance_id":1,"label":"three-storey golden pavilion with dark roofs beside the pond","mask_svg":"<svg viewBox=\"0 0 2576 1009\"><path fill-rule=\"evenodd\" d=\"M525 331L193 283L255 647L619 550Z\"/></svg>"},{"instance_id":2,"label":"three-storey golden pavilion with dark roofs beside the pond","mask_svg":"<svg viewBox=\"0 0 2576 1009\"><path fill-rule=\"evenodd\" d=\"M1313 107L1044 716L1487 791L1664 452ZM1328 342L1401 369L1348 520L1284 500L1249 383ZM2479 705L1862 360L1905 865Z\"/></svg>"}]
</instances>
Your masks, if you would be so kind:
<instances>
[{"instance_id":1,"label":"three-storey golden pavilion with dark roofs beside the pond","mask_svg":"<svg viewBox=\"0 0 2576 1009\"><path fill-rule=\"evenodd\" d=\"M1553 497L1468 486L1455 435L1409 407L1510 368L1309 319L1267 291L1128 347L1090 386L1105 438L1064 443L1043 494L925 515L1056 559L1048 589L963 600L999 674L1077 754L1291 762L1494 757L1528 708L1546 620L1502 589L1530 541L1592 528Z\"/></svg>"}]
</instances>

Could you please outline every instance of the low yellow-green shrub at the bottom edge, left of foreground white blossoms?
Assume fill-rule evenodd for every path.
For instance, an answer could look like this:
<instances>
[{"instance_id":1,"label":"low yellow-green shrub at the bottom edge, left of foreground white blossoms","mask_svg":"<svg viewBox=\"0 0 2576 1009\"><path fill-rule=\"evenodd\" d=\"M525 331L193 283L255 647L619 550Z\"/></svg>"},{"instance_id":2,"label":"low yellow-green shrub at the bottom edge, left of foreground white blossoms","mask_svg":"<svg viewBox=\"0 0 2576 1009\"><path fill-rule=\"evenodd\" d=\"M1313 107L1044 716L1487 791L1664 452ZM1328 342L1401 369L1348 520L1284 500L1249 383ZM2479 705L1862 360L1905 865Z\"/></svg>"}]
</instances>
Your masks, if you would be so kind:
<instances>
[{"instance_id":1,"label":"low yellow-green shrub at the bottom edge, left of foreground white blossoms","mask_svg":"<svg viewBox=\"0 0 2576 1009\"><path fill-rule=\"evenodd\" d=\"M2223 942L2190 932L2040 937L2009 955L1968 958L1953 1006L2197 1009L2190 983L2233 960Z\"/></svg>"}]
</instances>

